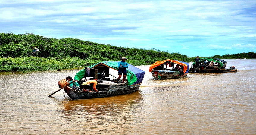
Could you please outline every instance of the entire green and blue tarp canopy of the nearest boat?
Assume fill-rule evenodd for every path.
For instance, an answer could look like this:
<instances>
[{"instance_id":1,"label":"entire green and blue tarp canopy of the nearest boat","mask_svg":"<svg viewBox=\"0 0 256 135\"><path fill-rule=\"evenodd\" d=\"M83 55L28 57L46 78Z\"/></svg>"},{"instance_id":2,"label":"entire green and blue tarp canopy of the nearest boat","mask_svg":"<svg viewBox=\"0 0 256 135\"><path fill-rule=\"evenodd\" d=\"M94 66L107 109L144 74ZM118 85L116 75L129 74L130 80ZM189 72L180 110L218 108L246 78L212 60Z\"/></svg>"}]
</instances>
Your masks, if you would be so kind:
<instances>
[{"instance_id":1,"label":"entire green and blue tarp canopy of the nearest boat","mask_svg":"<svg viewBox=\"0 0 256 135\"><path fill-rule=\"evenodd\" d=\"M118 71L118 64L117 64L118 62L119 61L102 61L102 62L96 63L94 65L91 65L89 67L93 68L93 67L97 67L97 65L103 64L109 68L112 68L112 69ZM80 70L78 73L76 73L74 79L81 80L84 77L84 74L85 74L85 69ZM145 71L140 70L139 68L134 67L133 65L129 64L129 68L127 69L127 84L128 84L128 86L141 83L143 80L144 74L145 74Z\"/></svg>"}]
</instances>

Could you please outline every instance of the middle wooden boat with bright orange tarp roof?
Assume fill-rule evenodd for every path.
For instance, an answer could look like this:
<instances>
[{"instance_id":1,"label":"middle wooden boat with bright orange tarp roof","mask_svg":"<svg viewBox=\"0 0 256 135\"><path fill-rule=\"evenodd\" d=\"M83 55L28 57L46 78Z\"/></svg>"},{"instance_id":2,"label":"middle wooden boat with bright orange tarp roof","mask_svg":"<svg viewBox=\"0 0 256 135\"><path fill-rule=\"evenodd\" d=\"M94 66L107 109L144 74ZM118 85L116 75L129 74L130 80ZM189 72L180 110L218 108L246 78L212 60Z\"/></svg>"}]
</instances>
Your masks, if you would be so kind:
<instances>
[{"instance_id":1,"label":"middle wooden boat with bright orange tarp roof","mask_svg":"<svg viewBox=\"0 0 256 135\"><path fill-rule=\"evenodd\" d=\"M160 80L160 79L177 79L177 78L184 78L181 77L178 71L174 71L174 67L177 64L182 65L184 67L183 73L184 77L188 75L189 71L189 63L178 61L178 60L164 60L164 61L156 61L154 64L152 64L149 67L149 72L152 73L152 76L154 79ZM172 69L168 69L167 65L171 65L169 67L173 67ZM164 66L166 68L164 68Z\"/></svg>"}]
</instances>

